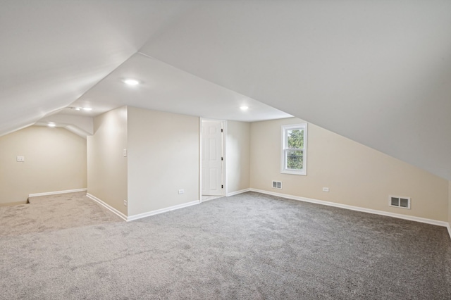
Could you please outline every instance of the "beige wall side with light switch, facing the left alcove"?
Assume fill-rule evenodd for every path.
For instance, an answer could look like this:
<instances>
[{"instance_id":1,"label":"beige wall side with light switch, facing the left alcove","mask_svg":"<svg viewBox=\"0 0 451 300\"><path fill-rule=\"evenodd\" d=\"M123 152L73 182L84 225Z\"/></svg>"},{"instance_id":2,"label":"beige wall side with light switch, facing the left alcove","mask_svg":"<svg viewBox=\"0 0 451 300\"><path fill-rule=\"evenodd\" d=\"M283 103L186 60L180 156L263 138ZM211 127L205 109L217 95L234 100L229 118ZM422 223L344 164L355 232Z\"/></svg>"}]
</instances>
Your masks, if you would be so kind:
<instances>
[{"instance_id":1,"label":"beige wall side with light switch, facing the left alcove","mask_svg":"<svg viewBox=\"0 0 451 300\"><path fill-rule=\"evenodd\" d=\"M94 118L94 135L87 137L87 192L128 215L127 107Z\"/></svg>"}]
</instances>

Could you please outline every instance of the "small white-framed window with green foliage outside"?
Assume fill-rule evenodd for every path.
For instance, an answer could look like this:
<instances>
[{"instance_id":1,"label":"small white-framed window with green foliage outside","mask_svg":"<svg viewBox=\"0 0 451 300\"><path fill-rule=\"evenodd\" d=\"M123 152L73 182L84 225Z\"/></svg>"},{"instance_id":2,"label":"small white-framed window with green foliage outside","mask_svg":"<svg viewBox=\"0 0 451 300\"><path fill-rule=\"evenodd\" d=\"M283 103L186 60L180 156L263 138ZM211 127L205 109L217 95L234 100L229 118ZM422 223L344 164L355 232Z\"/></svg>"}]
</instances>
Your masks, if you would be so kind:
<instances>
[{"instance_id":1,"label":"small white-framed window with green foliage outside","mask_svg":"<svg viewBox=\"0 0 451 300\"><path fill-rule=\"evenodd\" d=\"M307 175L307 124L282 126L280 173Z\"/></svg>"}]
</instances>

